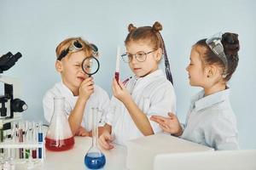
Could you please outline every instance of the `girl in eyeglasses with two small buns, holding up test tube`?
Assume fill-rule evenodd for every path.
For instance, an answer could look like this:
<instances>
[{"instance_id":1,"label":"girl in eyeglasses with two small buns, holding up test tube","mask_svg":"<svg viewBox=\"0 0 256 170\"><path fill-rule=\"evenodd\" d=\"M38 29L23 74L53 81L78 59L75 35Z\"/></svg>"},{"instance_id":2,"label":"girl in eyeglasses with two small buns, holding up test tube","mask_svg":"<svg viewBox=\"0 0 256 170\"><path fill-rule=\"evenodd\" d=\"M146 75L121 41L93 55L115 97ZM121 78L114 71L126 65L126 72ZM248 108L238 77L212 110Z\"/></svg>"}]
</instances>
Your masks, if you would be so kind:
<instances>
[{"instance_id":1,"label":"girl in eyeglasses with two small buns, holding up test tube","mask_svg":"<svg viewBox=\"0 0 256 170\"><path fill-rule=\"evenodd\" d=\"M105 130L99 138L99 143L107 150L113 148L112 142L125 144L126 140L160 132L160 126L149 117L167 116L176 107L172 74L160 35L162 26L159 22L138 28L130 24L128 30L126 54L122 58L134 76L125 83L113 79L113 98ZM162 56L166 61L167 78L158 66Z\"/></svg>"}]
</instances>

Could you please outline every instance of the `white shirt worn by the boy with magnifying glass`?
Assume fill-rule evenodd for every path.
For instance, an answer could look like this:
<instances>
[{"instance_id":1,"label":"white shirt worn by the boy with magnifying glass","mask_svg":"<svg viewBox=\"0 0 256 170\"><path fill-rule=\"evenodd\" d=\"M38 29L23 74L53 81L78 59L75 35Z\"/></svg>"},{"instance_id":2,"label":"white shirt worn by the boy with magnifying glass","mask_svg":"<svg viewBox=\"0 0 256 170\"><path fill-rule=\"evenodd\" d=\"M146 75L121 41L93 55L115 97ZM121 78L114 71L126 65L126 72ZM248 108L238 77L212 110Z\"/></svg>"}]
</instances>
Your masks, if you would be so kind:
<instances>
[{"instance_id":1,"label":"white shirt worn by the boy with magnifying glass","mask_svg":"<svg viewBox=\"0 0 256 170\"><path fill-rule=\"evenodd\" d=\"M67 88L63 82L55 83L55 86L48 90L43 99L44 118L47 122L50 122L50 119L53 116L55 96L62 96L65 98L65 112L67 116L69 116L70 112L73 111L77 99L79 98L79 96L74 96L72 91ZM107 92L95 85L94 93L90 95L90 98L85 104L81 126L87 131L91 130L91 108L93 107L99 108L99 110L102 111L100 114L98 114L98 120L100 122L100 126L102 126L105 122L104 120L107 114L106 112L108 111L109 102L110 100Z\"/></svg>"}]
</instances>

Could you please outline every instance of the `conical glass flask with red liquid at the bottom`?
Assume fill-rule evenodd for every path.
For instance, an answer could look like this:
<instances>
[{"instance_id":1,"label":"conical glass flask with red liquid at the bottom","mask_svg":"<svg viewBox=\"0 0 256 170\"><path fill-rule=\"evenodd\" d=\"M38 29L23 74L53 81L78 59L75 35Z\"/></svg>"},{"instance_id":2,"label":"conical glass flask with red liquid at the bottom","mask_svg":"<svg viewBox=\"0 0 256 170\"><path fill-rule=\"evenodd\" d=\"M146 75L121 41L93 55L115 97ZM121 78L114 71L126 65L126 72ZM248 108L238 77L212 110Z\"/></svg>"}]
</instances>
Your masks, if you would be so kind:
<instances>
[{"instance_id":1,"label":"conical glass flask with red liquid at the bottom","mask_svg":"<svg viewBox=\"0 0 256 170\"><path fill-rule=\"evenodd\" d=\"M54 114L45 137L45 148L52 151L70 150L74 138L64 109L64 97L54 98Z\"/></svg>"}]
</instances>

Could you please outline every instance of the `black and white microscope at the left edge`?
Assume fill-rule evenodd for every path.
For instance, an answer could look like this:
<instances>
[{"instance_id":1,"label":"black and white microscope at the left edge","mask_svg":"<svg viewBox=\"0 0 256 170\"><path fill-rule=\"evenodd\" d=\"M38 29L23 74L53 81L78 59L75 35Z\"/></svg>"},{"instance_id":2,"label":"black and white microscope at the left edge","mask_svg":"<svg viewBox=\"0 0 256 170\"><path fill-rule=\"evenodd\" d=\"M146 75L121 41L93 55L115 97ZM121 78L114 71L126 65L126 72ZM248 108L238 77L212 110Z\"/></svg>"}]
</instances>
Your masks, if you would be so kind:
<instances>
[{"instance_id":1,"label":"black and white microscope at the left edge","mask_svg":"<svg viewBox=\"0 0 256 170\"><path fill-rule=\"evenodd\" d=\"M20 99L20 82L15 78L1 75L3 71L15 65L21 56L20 52L16 54L9 52L0 57L0 82L3 82L4 88L4 94L0 95L0 128L3 130L11 127L10 122L19 121L20 112L27 109L26 103Z\"/></svg>"}]
</instances>

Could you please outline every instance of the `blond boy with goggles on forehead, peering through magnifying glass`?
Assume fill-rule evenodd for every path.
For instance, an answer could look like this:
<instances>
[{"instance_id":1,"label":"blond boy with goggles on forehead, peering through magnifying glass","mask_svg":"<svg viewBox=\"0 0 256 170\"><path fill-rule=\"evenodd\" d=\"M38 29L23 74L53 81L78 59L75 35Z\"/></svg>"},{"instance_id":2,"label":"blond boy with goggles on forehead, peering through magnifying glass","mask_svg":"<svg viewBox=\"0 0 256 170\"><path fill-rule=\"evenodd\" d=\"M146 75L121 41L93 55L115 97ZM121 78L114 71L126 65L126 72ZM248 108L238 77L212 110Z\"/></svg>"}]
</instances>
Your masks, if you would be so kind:
<instances>
[{"instance_id":1,"label":"blond boy with goggles on forehead, peering through magnifying glass","mask_svg":"<svg viewBox=\"0 0 256 170\"><path fill-rule=\"evenodd\" d=\"M98 49L81 37L70 37L62 41L55 52L55 69L61 74L61 82L55 83L44 95L45 120L50 122L53 116L54 97L63 96L73 135L91 136L91 108L102 111L99 121L103 122L110 102L107 92L82 70L83 60L91 56L98 57Z\"/></svg>"}]
</instances>

